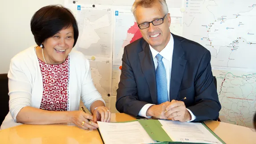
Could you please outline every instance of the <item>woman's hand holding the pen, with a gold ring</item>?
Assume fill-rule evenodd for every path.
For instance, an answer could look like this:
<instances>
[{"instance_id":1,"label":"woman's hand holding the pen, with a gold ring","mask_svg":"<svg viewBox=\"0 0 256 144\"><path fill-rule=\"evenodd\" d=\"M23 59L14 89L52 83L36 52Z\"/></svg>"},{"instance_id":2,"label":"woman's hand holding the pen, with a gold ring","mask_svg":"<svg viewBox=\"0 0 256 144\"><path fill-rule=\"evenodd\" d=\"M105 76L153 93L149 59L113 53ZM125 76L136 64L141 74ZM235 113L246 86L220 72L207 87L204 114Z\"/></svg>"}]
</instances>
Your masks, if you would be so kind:
<instances>
[{"instance_id":1,"label":"woman's hand holding the pen, with a gold ring","mask_svg":"<svg viewBox=\"0 0 256 144\"><path fill-rule=\"evenodd\" d=\"M69 118L71 122L76 124L79 128L82 128L82 129L98 128L98 124L93 122L92 115L89 115L83 111L72 111L71 116ZM89 123L88 120L91 120L91 123Z\"/></svg>"}]
</instances>

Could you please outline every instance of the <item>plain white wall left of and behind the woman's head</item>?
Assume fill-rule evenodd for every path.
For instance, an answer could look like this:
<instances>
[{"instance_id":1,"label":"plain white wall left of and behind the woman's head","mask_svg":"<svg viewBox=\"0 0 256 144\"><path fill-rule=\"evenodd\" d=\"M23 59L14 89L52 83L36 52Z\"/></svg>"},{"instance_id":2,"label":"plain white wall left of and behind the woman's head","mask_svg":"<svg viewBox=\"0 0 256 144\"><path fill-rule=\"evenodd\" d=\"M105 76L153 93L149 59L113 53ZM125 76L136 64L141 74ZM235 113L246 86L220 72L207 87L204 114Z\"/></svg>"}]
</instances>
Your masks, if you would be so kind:
<instances>
[{"instance_id":1,"label":"plain white wall left of and behind the woman's head","mask_svg":"<svg viewBox=\"0 0 256 144\"><path fill-rule=\"evenodd\" d=\"M0 0L0 73L8 72L13 56L36 44L30 20L49 4L64 5L64 0Z\"/></svg>"}]
</instances>

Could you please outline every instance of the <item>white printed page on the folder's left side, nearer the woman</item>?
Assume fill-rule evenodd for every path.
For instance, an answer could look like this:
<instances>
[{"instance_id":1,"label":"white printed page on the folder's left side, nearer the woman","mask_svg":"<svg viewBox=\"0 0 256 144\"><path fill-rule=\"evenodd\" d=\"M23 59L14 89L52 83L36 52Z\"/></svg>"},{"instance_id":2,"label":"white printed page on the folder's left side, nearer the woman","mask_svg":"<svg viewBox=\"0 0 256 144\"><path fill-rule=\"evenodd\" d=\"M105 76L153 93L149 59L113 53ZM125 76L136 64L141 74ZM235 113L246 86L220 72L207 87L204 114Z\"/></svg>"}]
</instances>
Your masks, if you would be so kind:
<instances>
[{"instance_id":1,"label":"white printed page on the folder's left side, nearer the woman","mask_svg":"<svg viewBox=\"0 0 256 144\"><path fill-rule=\"evenodd\" d=\"M98 121L97 123L105 144L156 143L138 121L129 123L106 123Z\"/></svg>"}]
</instances>

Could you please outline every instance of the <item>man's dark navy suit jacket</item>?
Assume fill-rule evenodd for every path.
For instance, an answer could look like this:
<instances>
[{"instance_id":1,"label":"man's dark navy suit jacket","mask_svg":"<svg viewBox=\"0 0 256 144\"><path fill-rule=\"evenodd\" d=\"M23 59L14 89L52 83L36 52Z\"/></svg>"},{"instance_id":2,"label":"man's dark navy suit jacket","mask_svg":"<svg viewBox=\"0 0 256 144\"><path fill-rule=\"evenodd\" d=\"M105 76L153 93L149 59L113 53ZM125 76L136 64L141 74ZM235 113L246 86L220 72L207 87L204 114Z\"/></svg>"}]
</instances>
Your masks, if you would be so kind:
<instances>
[{"instance_id":1,"label":"man's dark navy suit jacket","mask_svg":"<svg viewBox=\"0 0 256 144\"><path fill-rule=\"evenodd\" d=\"M210 52L200 44L172 34L174 49L170 100L181 100L196 116L194 122L216 120L220 102L213 82ZM137 116L145 104L157 104L152 53L143 39L124 48L116 109Z\"/></svg>"}]
</instances>

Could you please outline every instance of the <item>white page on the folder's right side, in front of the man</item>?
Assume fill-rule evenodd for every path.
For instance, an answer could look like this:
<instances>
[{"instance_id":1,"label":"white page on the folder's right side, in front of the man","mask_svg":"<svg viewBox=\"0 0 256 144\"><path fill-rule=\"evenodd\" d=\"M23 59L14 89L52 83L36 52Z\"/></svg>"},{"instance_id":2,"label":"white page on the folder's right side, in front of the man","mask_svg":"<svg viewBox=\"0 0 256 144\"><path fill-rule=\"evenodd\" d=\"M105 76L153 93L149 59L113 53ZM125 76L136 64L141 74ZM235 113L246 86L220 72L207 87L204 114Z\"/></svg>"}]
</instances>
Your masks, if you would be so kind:
<instances>
[{"instance_id":1,"label":"white page on the folder's right side, in front of the man","mask_svg":"<svg viewBox=\"0 0 256 144\"><path fill-rule=\"evenodd\" d=\"M176 142L222 144L201 123L159 120L168 136Z\"/></svg>"}]
</instances>

